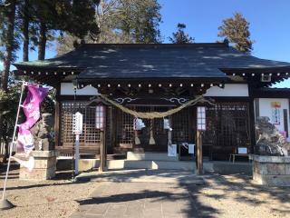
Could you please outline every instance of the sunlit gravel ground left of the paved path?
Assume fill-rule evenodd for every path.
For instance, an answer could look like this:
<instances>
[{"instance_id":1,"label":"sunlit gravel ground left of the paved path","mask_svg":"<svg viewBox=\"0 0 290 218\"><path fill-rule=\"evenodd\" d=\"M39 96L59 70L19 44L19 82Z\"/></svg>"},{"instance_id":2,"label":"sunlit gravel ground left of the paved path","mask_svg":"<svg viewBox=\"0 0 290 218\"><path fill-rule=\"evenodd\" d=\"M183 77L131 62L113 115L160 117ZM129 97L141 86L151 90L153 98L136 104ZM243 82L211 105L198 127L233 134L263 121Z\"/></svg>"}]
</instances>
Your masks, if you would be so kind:
<instances>
[{"instance_id":1,"label":"sunlit gravel ground left of the paved path","mask_svg":"<svg viewBox=\"0 0 290 218\"><path fill-rule=\"evenodd\" d=\"M5 173L1 173L1 196ZM72 183L71 173L58 173L53 181L28 182L18 179L18 170L10 173L6 198L16 207L0 211L0 217L69 217L99 183Z\"/></svg>"}]
</instances>

